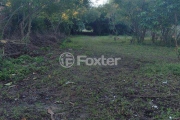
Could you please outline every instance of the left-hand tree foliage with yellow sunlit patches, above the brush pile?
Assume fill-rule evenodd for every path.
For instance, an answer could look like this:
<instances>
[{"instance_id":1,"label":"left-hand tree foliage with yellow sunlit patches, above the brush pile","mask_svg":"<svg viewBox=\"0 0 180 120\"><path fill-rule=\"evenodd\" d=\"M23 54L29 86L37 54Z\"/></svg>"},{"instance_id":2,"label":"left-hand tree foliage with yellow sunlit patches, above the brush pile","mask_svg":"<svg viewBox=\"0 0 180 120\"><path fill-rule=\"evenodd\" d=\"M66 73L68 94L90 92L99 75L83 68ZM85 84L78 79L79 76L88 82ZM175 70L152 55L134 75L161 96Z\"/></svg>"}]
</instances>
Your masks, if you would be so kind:
<instances>
[{"instance_id":1,"label":"left-hand tree foliage with yellow sunlit patches, above the brush pile","mask_svg":"<svg viewBox=\"0 0 180 120\"><path fill-rule=\"evenodd\" d=\"M9 27L11 30L2 32L9 32L10 35L16 32L21 35L21 39L37 31L70 34L76 26L82 26L82 16L89 7L89 0L4 0L3 2L6 5L5 14L11 16L7 18L7 22L4 22L4 27ZM19 33L17 29L20 29Z\"/></svg>"}]
</instances>

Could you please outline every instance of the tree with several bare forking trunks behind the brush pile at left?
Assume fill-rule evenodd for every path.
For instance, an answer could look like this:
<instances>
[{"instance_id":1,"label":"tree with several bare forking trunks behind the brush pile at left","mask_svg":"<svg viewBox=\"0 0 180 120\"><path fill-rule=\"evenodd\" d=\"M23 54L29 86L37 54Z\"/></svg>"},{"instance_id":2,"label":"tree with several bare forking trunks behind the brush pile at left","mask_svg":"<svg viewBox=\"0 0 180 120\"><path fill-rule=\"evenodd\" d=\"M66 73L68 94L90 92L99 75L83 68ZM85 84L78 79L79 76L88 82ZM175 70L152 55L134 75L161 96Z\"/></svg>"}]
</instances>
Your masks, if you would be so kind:
<instances>
[{"instance_id":1,"label":"tree with several bare forking trunks behind the brush pile at left","mask_svg":"<svg viewBox=\"0 0 180 120\"><path fill-rule=\"evenodd\" d=\"M11 17L8 18L4 29L6 29L7 25L11 22L11 32L19 28L21 39L28 40L33 19L38 16L47 4L48 0L7 0L6 14Z\"/></svg>"}]
</instances>

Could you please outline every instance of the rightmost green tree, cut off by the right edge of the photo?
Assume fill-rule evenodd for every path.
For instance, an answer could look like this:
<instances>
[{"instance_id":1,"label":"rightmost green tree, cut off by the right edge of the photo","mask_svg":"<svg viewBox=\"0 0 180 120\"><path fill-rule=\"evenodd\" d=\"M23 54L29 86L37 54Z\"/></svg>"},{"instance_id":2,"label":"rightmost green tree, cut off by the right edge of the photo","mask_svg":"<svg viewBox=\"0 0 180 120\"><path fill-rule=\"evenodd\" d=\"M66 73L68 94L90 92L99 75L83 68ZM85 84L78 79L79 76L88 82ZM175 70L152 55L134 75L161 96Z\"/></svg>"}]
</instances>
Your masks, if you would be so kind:
<instances>
[{"instance_id":1,"label":"rightmost green tree, cut off by the right edge of the photo","mask_svg":"<svg viewBox=\"0 0 180 120\"><path fill-rule=\"evenodd\" d=\"M149 26L149 29L154 32L152 40L154 42L154 36L157 31L160 31L161 41L163 44L171 46L174 44L174 40L177 41L177 25L178 25L178 14L179 1L169 0L157 0L151 1L151 11L149 16L142 22ZM148 23L148 24L147 24ZM177 44L177 42L175 42Z\"/></svg>"}]
</instances>

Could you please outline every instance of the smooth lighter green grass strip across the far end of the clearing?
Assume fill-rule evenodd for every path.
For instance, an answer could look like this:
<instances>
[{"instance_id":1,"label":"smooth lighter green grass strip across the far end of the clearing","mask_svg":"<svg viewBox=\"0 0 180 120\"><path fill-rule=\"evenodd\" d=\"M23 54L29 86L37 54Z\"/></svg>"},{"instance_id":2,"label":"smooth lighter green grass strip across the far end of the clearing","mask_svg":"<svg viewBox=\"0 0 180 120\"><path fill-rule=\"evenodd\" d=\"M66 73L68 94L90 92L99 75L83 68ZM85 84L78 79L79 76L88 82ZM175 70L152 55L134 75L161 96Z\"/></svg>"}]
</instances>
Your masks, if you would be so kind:
<instances>
[{"instance_id":1,"label":"smooth lighter green grass strip across the far end of the clearing","mask_svg":"<svg viewBox=\"0 0 180 120\"><path fill-rule=\"evenodd\" d=\"M130 39L131 37L120 36L120 40L114 41L113 37L109 36L75 36L71 38L71 43L65 44L66 48L82 48L97 54L123 55L149 61L177 61L174 48L130 44ZM149 40L147 42L149 43Z\"/></svg>"}]
</instances>

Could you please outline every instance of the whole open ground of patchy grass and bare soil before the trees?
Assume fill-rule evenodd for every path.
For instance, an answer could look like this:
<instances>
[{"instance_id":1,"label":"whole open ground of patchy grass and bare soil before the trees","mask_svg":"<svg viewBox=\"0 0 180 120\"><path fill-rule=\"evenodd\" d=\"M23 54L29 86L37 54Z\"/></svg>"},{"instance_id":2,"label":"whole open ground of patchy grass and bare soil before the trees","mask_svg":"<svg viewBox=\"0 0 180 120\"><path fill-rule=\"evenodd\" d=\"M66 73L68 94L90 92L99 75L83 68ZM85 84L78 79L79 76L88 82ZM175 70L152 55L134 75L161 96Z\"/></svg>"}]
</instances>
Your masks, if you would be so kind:
<instances>
[{"instance_id":1,"label":"whole open ground of patchy grass and bare soil before the trees","mask_svg":"<svg viewBox=\"0 0 180 120\"><path fill-rule=\"evenodd\" d=\"M0 119L180 119L180 63L173 48L132 45L128 37L69 39L46 49L43 58L24 56L0 64ZM117 66L65 69L59 65L63 52L122 60ZM3 64L16 70L6 72Z\"/></svg>"}]
</instances>

